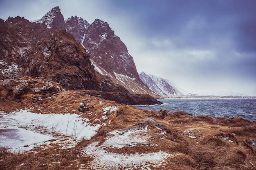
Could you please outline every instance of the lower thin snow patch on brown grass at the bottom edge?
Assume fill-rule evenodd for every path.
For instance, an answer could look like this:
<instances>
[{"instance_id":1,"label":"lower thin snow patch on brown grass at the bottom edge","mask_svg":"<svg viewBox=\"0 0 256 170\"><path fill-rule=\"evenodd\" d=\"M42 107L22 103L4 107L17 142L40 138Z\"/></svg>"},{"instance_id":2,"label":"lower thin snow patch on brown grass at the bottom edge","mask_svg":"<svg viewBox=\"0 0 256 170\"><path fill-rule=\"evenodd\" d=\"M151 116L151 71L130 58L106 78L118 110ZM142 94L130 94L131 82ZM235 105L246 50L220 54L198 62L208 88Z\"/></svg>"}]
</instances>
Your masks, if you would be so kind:
<instances>
[{"instance_id":1,"label":"lower thin snow patch on brown grass at the bottom edge","mask_svg":"<svg viewBox=\"0 0 256 170\"><path fill-rule=\"evenodd\" d=\"M141 153L141 154L118 154L110 153L101 146L97 146L97 142L94 142L87 146L84 151L86 155L94 157L90 165L86 168L93 169L124 169L124 168L140 168L140 169L151 169L150 166L155 168L161 167L168 157L173 155L166 152L157 153ZM83 167L81 167L83 168ZM85 168L85 167L84 167Z\"/></svg>"}]
</instances>

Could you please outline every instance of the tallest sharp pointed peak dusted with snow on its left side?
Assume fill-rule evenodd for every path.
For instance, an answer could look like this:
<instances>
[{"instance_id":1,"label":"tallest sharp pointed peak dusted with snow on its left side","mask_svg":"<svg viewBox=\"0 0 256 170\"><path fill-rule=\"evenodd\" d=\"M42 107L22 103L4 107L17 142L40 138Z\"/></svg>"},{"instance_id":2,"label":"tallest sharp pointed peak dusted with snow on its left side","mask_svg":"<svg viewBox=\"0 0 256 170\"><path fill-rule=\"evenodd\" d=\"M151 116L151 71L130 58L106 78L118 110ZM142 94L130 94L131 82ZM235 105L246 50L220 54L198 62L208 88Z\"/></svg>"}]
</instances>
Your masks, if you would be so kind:
<instances>
[{"instance_id":1,"label":"tallest sharp pointed peak dusted with snow on its left side","mask_svg":"<svg viewBox=\"0 0 256 170\"><path fill-rule=\"evenodd\" d=\"M59 7L54 7L51 11L46 13L42 19L36 21L36 23L45 23L47 28L51 31L56 29L66 29L64 17Z\"/></svg>"}]
</instances>

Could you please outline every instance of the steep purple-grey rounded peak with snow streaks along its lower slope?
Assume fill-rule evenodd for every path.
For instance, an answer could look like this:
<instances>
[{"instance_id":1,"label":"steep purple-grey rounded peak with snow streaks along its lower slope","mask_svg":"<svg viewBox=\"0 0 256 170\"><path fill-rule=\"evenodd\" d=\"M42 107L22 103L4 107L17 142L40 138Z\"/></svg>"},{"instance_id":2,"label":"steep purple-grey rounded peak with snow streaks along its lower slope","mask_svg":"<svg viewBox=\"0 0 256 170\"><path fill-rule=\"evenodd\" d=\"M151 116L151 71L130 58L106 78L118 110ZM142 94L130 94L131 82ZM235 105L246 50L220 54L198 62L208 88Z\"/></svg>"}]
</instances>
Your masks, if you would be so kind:
<instances>
[{"instance_id":1,"label":"steep purple-grey rounded peak with snow streaks along its lower slope","mask_svg":"<svg viewBox=\"0 0 256 170\"><path fill-rule=\"evenodd\" d=\"M155 96L140 80L132 56L107 22L95 20L85 33L83 46L90 52L92 64L99 73L110 76L132 93Z\"/></svg>"}]
</instances>

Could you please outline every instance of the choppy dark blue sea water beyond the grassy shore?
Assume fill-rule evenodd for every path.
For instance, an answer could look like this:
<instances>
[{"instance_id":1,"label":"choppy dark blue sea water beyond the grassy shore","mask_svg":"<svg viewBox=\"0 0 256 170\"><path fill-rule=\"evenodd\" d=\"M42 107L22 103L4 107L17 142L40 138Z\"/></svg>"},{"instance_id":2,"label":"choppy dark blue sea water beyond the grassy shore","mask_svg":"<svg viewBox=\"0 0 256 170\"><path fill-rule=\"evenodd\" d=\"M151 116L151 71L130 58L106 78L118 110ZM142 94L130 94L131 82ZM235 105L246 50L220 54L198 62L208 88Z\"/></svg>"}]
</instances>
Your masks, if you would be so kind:
<instances>
[{"instance_id":1,"label":"choppy dark blue sea water beyond the grassy shore","mask_svg":"<svg viewBox=\"0 0 256 170\"><path fill-rule=\"evenodd\" d=\"M256 99L164 99L162 105L135 106L140 109L172 109L194 116L241 117L256 121Z\"/></svg>"}]
</instances>

